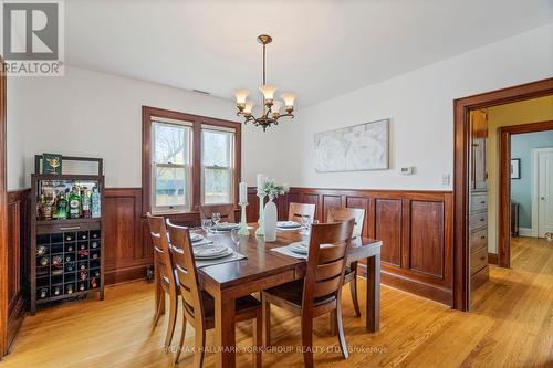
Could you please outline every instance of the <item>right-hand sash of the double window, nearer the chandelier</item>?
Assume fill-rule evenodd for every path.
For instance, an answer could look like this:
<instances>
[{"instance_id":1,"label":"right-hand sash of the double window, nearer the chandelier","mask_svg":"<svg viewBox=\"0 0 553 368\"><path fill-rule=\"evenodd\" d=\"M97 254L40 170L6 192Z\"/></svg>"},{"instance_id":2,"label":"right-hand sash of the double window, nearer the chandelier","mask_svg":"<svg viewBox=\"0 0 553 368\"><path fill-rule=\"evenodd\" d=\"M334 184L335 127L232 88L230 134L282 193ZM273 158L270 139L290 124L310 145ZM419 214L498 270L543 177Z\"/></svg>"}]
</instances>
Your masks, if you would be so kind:
<instances>
[{"instance_id":1,"label":"right-hand sash of the double window, nearer the chandelier","mask_svg":"<svg viewBox=\"0 0 553 368\"><path fill-rule=\"evenodd\" d=\"M201 129L201 202L232 202L233 130Z\"/></svg>"}]
</instances>

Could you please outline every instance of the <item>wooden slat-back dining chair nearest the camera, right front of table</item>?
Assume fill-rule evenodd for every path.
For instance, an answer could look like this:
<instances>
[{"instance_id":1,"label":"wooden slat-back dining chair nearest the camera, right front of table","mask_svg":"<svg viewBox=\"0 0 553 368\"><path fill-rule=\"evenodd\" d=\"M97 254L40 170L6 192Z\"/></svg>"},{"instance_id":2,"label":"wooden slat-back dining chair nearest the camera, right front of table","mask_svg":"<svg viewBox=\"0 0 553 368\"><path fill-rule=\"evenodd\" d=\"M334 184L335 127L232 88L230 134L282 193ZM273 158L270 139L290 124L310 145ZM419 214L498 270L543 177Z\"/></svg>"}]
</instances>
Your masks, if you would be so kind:
<instances>
[{"instance_id":1,"label":"wooden slat-back dining chair nearest the camera, right front of table","mask_svg":"<svg viewBox=\"0 0 553 368\"><path fill-rule=\"evenodd\" d=\"M353 219L313 224L304 280L261 293L265 345L271 345L271 304L301 316L303 362L309 368L313 367L313 318L326 313L335 317L342 356L348 356L340 297L353 228Z\"/></svg>"}]
</instances>

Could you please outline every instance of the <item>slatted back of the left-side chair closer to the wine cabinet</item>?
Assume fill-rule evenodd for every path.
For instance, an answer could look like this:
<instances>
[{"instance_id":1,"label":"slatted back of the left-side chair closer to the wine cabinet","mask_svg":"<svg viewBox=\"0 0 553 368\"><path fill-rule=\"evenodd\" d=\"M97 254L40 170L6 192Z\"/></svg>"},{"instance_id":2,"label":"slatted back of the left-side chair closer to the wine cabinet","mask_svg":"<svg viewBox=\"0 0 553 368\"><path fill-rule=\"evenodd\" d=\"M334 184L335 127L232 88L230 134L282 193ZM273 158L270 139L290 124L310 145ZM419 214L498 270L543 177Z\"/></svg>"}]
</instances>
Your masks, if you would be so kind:
<instances>
[{"instance_id":1,"label":"slatted back of the left-side chair closer to the wine cabinet","mask_svg":"<svg viewBox=\"0 0 553 368\"><path fill-rule=\"evenodd\" d=\"M169 252L169 242L167 239L167 229L163 217L147 214L152 243L154 244L154 260L156 272L158 272L161 287L168 291L168 287L176 287L175 273Z\"/></svg>"}]
</instances>

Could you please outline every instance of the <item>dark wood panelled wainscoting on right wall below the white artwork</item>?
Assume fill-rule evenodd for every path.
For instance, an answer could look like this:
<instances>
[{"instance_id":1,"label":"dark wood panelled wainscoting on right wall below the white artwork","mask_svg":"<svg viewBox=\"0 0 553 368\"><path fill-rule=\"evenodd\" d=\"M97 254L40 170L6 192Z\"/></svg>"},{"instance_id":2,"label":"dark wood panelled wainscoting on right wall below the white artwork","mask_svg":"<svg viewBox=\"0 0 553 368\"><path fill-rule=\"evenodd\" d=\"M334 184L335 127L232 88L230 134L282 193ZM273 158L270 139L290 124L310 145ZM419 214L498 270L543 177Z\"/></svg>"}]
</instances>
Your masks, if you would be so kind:
<instances>
[{"instance_id":1,"label":"dark wood panelled wainscoting on right wall below the white artwork","mask_svg":"<svg viewBox=\"0 0 553 368\"><path fill-rule=\"evenodd\" d=\"M258 218L255 192L249 188L249 222ZM281 220L290 202L316 204L319 220L331 207L365 209L364 236L383 241L383 283L452 305L452 192L291 188L275 202Z\"/></svg>"}]
</instances>

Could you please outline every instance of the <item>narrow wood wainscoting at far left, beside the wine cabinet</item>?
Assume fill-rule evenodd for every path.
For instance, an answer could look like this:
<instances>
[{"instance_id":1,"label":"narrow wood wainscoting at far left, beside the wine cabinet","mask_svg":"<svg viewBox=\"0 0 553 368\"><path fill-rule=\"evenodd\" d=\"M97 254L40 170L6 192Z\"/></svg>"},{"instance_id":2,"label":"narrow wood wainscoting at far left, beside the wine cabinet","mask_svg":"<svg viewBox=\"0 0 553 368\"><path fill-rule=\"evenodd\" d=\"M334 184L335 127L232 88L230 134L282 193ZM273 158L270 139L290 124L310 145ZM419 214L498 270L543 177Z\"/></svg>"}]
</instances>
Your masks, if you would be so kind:
<instances>
[{"instance_id":1,"label":"narrow wood wainscoting at far left, beside the wine cabinet","mask_svg":"<svg viewBox=\"0 0 553 368\"><path fill-rule=\"evenodd\" d=\"M23 260L29 249L30 190L8 192L8 351L24 316L23 290L28 281Z\"/></svg>"}]
</instances>

